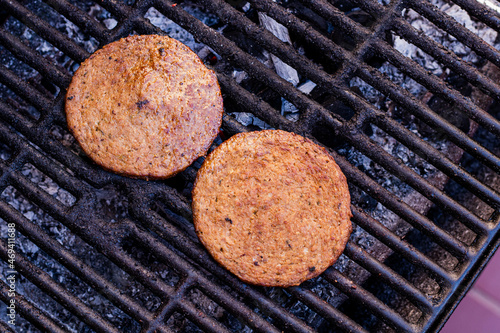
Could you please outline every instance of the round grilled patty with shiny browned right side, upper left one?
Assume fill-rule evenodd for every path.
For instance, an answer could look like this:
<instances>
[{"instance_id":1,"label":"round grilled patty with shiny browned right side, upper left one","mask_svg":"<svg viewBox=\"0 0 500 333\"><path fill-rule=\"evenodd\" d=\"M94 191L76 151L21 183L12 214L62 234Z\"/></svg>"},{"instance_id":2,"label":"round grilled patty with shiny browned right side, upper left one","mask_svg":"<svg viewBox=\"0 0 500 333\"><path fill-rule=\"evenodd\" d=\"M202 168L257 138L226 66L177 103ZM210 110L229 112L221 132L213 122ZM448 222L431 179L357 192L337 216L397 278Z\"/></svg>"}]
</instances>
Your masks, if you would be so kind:
<instances>
[{"instance_id":1,"label":"round grilled patty with shiny browned right side, upper left one","mask_svg":"<svg viewBox=\"0 0 500 333\"><path fill-rule=\"evenodd\" d=\"M68 126L85 153L113 172L167 178L206 154L222 121L216 75L184 44L130 36L75 72Z\"/></svg>"}]
</instances>

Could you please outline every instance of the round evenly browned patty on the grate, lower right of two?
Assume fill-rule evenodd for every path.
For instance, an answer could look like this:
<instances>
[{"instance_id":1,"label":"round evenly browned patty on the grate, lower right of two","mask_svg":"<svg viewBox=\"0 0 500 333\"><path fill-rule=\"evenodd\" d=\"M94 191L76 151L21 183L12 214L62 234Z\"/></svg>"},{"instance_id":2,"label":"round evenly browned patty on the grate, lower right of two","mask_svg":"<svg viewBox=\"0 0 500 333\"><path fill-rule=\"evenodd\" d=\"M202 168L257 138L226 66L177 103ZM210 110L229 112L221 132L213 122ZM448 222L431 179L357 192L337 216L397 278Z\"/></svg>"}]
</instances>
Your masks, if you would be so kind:
<instances>
[{"instance_id":1,"label":"round evenly browned patty on the grate, lower right of two","mask_svg":"<svg viewBox=\"0 0 500 333\"><path fill-rule=\"evenodd\" d=\"M196 232L242 280L293 286L319 275L351 233L344 174L320 146L280 130L242 133L216 148L193 189Z\"/></svg>"}]
</instances>

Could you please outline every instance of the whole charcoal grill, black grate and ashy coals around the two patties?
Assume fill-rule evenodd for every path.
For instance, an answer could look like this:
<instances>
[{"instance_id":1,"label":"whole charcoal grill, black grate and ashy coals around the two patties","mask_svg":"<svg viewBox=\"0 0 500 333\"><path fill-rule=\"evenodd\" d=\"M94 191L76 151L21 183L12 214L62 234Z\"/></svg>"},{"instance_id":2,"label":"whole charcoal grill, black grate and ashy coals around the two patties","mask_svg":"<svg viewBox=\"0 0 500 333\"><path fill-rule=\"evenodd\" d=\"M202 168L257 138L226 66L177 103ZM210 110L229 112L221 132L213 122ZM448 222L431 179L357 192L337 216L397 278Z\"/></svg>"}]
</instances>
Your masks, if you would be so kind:
<instances>
[{"instance_id":1,"label":"whole charcoal grill, black grate and ashy coals around the two patties","mask_svg":"<svg viewBox=\"0 0 500 333\"><path fill-rule=\"evenodd\" d=\"M450 8L500 33L498 7L472 0L0 0L2 330L438 331L500 235L500 53ZM69 135L78 63L152 33L188 36L216 71L225 114L214 146L261 125L338 162L355 231L320 277L261 288L218 266L191 220L202 159L166 181L129 179ZM277 74L280 61L299 82Z\"/></svg>"}]
</instances>

